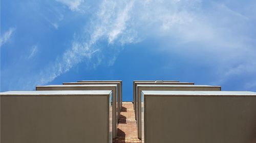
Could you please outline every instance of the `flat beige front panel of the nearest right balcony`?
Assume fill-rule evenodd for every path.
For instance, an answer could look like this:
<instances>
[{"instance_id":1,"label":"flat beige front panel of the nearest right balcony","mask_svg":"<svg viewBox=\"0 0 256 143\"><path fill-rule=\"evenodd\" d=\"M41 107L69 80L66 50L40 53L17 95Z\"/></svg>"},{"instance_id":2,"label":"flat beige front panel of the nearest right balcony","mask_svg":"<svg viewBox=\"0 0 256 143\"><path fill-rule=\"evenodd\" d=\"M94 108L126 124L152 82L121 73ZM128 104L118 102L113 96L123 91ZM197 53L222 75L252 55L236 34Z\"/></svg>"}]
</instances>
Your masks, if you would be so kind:
<instances>
[{"instance_id":1,"label":"flat beige front panel of the nearest right balcony","mask_svg":"<svg viewBox=\"0 0 256 143\"><path fill-rule=\"evenodd\" d=\"M144 124L146 143L255 143L256 95L145 95Z\"/></svg>"}]
</instances>

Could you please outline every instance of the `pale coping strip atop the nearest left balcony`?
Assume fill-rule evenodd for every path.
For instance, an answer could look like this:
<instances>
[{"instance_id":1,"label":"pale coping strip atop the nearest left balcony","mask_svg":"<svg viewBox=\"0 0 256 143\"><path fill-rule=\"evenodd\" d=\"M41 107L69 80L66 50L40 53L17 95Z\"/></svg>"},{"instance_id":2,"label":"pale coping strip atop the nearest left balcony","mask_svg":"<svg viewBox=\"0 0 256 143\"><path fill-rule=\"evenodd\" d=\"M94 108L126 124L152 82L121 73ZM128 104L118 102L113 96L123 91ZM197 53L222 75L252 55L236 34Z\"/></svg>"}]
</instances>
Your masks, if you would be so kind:
<instances>
[{"instance_id":1,"label":"pale coping strip atop the nearest left balcony","mask_svg":"<svg viewBox=\"0 0 256 143\"><path fill-rule=\"evenodd\" d=\"M47 91L6 91L1 96L102 96L109 95L112 90L47 90Z\"/></svg>"}]
</instances>

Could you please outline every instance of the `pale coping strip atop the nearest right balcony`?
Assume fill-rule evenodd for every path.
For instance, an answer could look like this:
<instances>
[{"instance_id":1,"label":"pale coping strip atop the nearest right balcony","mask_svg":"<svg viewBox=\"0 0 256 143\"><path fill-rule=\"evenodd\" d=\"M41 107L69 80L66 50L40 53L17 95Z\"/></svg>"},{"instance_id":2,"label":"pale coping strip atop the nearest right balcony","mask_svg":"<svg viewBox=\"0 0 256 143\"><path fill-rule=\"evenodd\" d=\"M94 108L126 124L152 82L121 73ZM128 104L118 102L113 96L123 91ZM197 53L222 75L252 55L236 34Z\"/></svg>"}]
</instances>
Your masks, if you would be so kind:
<instances>
[{"instance_id":1,"label":"pale coping strip atop the nearest right balcony","mask_svg":"<svg viewBox=\"0 0 256 143\"><path fill-rule=\"evenodd\" d=\"M153 91L142 90L144 95L159 96L256 96L256 92L251 91Z\"/></svg>"}]
</instances>

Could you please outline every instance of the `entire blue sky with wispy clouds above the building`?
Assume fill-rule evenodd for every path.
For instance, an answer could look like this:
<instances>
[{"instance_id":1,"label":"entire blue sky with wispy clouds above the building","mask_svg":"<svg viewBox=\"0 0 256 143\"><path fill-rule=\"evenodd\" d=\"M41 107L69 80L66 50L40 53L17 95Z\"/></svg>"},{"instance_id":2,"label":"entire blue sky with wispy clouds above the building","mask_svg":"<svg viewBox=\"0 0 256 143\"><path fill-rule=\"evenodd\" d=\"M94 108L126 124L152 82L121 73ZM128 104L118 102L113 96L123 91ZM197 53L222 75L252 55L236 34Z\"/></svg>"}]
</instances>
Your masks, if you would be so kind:
<instances>
[{"instance_id":1,"label":"entire blue sky with wispy clouds above the building","mask_svg":"<svg viewBox=\"0 0 256 143\"><path fill-rule=\"evenodd\" d=\"M256 1L1 1L1 91L179 80L256 91Z\"/></svg>"}]
</instances>

